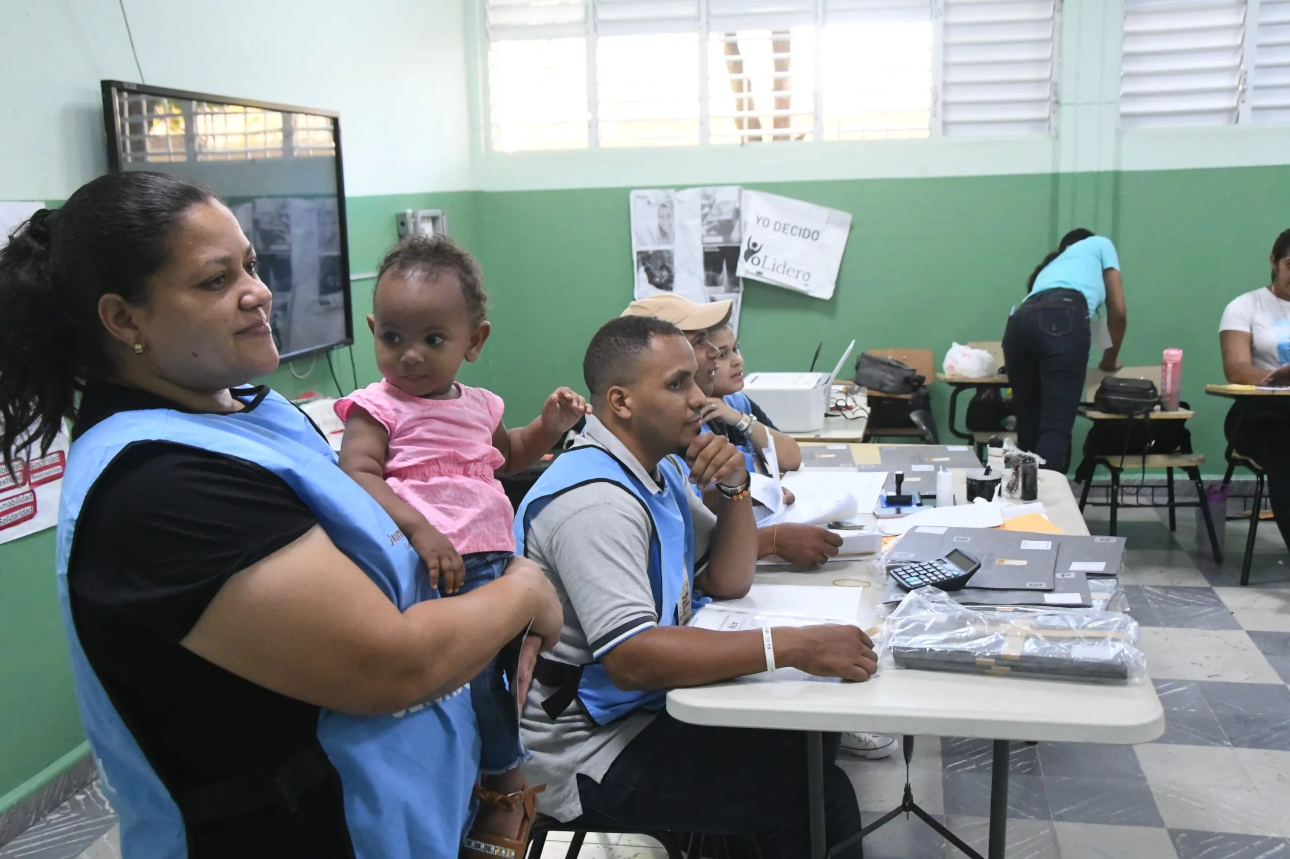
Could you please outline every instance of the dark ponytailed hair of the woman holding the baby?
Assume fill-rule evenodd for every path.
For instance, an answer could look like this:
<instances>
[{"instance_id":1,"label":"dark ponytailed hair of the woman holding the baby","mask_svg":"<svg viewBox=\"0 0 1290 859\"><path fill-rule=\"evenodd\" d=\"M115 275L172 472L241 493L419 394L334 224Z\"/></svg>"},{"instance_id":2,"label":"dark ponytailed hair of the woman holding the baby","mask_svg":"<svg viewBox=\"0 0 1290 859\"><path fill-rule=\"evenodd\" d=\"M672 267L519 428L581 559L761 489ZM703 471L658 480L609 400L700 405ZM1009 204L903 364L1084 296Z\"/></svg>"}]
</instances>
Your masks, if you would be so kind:
<instances>
[{"instance_id":1,"label":"dark ponytailed hair of the woman holding the baby","mask_svg":"<svg viewBox=\"0 0 1290 859\"><path fill-rule=\"evenodd\" d=\"M0 462L48 450L88 382L112 374L99 298L147 302L147 281L209 191L163 173L110 173L41 209L0 246Z\"/></svg>"}]
</instances>

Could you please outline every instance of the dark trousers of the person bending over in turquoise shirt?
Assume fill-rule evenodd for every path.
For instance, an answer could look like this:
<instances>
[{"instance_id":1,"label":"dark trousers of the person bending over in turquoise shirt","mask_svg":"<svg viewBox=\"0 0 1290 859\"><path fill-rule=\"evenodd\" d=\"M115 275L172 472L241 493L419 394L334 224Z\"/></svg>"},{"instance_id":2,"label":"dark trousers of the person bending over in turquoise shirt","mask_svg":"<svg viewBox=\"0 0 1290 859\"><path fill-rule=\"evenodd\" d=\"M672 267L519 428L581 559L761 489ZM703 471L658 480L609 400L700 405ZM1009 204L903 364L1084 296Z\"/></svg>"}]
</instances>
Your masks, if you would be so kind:
<instances>
[{"instance_id":1,"label":"dark trousers of the person bending over in turquoise shirt","mask_svg":"<svg viewBox=\"0 0 1290 859\"><path fill-rule=\"evenodd\" d=\"M1017 446L1046 468L1071 467L1071 431L1089 366L1089 307L1075 289L1035 293L1004 331L1004 362L1013 387Z\"/></svg>"}]
</instances>

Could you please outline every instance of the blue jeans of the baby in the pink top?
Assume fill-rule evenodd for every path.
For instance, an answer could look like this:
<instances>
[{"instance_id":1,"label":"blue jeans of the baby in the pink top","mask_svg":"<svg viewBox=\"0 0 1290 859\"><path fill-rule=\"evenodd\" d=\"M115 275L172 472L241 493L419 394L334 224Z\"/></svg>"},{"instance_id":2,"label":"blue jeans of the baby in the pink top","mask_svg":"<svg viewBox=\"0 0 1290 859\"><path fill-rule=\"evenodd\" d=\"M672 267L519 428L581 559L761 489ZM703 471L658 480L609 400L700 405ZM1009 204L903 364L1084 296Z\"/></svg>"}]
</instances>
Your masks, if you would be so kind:
<instances>
[{"instance_id":1,"label":"blue jeans of the baby in the pink top","mask_svg":"<svg viewBox=\"0 0 1290 859\"><path fill-rule=\"evenodd\" d=\"M512 557L511 552L463 555L466 583L459 593L468 593L501 578ZM502 664L494 657L471 681L471 706L480 726L480 773L484 775L507 773L529 757L520 744L520 717Z\"/></svg>"}]
</instances>

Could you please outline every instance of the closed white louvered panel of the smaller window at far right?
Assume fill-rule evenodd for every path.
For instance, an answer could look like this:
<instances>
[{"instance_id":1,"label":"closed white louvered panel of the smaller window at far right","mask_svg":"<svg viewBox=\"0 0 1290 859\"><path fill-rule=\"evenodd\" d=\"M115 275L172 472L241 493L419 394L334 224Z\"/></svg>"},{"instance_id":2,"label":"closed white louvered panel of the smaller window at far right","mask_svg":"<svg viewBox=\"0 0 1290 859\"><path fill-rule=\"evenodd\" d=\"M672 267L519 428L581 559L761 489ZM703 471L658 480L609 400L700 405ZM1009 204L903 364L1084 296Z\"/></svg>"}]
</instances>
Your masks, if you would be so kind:
<instances>
[{"instance_id":1,"label":"closed white louvered panel of the smaller window at far right","mask_svg":"<svg viewBox=\"0 0 1290 859\"><path fill-rule=\"evenodd\" d=\"M1245 0L1125 0L1120 125L1237 121Z\"/></svg>"}]
</instances>

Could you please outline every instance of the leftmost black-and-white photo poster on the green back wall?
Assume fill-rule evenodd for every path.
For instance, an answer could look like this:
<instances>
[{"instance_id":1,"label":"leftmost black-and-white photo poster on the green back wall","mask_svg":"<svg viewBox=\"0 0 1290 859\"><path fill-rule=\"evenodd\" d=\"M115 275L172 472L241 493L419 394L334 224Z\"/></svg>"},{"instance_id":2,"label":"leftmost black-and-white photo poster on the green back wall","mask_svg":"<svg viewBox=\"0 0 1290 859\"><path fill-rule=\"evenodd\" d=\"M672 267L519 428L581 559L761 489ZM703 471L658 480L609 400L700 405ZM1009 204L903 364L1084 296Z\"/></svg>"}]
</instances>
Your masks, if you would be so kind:
<instances>
[{"instance_id":1,"label":"leftmost black-and-white photo poster on the green back wall","mask_svg":"<svg viewBox=\"0 0 1290 859\"><path fill-rule=\"evenodd\" d=\"M632 191L633 295L675 293L708 301L703 289L698 197L666 188Z\"/></svg>"}]
</instances>

